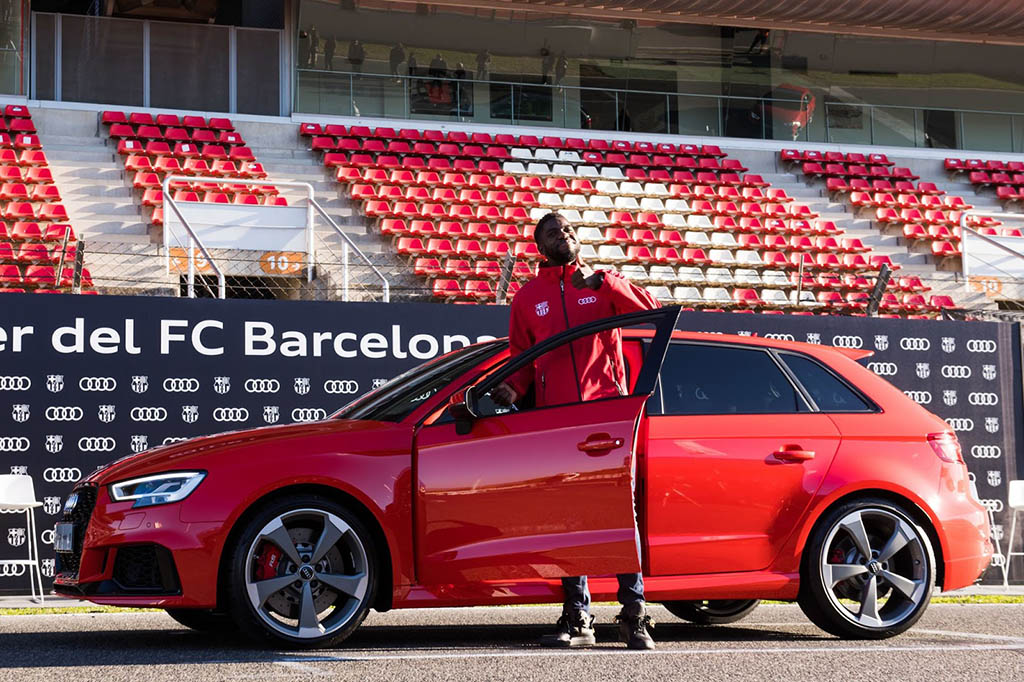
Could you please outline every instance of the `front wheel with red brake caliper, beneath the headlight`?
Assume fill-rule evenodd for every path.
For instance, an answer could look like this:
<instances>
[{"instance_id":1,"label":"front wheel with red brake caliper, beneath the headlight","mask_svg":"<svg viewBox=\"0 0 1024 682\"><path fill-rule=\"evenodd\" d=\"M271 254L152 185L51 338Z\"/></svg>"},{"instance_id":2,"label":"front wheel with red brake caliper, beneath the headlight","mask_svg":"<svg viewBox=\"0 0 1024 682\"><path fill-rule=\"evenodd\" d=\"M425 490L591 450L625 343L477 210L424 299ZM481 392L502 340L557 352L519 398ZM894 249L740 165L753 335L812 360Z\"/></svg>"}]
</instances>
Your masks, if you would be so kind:
<instances>
[{"instance_id":1,"label":"front wheel with red brake caliper, beneath the headlight","mask_svg":"<svg viewBox=\"0 0 1024 682\"><path fill-rule=\"evenodd\" d=\"M374 603L373 537L355 514L328 498L269 503L227 551L231 617L243 633L272 646L336 645Z\"/></svg>"}]
</instances>

